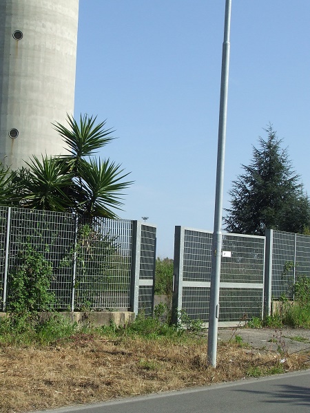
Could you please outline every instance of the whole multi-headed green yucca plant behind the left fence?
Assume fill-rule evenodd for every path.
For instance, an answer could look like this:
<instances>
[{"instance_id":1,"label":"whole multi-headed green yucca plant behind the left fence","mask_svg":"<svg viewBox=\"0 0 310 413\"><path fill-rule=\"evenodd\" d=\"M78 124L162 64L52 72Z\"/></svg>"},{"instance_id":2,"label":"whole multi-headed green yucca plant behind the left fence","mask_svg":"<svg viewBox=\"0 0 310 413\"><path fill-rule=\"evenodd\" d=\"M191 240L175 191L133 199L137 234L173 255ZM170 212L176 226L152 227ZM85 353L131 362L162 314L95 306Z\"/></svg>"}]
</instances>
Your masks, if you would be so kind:
<instances>
[{"instance_id":1,"label":"whole multi-headed green yucca plant behind the left fence","mask_svg":"<svg viewBox=\"0 0 310 413\"><path fill-rule=\"evenodd\" d=\"M113 209L121 209L123 189L132 181L124 180L128 173L121 165L110 159L91 158L114 139L112 129L105 129L105 121L96 124L96 117L87 115L80 116L79 122L68 115L67 122L69 127L55 123L54 129L63 138L68 154L42 156L40 160L32 156L26 168L14 173L15 199L20 207L76 212L87 220L94 216L117 218ZM12 180L5 172L0 170L3 198Z\"/></svg>"}]
</instances>

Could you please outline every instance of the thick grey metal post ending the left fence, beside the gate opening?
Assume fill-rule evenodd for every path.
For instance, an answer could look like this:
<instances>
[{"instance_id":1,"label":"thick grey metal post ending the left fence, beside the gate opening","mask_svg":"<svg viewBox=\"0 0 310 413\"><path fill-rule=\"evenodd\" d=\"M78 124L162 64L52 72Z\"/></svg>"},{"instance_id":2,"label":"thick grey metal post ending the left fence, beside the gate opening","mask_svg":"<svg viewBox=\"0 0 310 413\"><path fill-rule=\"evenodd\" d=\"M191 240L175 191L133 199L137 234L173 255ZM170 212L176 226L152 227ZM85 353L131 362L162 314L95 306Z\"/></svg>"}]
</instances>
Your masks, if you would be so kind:
<instances>
[{"instance_id":1,"label":"thick grey metal post ending the left fence, beside the gate opening","mask_svg":"<svg viewBox=\"0 0 310 413\"><path fill-rule=\"evenodd\" d=\"M132 268L130 276L130 311L138 315L141 255L141 222L132 221Z\"/></svg>"}]
</instances>

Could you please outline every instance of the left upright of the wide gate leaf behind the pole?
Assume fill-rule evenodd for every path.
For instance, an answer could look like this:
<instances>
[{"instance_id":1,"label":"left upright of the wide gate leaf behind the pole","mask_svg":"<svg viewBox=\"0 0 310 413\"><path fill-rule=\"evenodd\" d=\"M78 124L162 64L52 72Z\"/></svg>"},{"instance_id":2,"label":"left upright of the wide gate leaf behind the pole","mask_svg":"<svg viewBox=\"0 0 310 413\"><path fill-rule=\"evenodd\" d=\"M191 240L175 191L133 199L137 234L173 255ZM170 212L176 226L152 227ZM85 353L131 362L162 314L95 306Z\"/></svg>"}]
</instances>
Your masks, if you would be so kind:
<instances>
[{"instance_id":1,"label":"left upright of the wide gate leaf behind the pole","mask_svg":"<svg viewBox=\"0 0 310 413\"><path fill-rule=\"evenodd\" d=\"M178 324L179 312L182 310L183 288L184 228L174 229L174 285L172 293L172 323Z\"/></svg>"}]
</instances>

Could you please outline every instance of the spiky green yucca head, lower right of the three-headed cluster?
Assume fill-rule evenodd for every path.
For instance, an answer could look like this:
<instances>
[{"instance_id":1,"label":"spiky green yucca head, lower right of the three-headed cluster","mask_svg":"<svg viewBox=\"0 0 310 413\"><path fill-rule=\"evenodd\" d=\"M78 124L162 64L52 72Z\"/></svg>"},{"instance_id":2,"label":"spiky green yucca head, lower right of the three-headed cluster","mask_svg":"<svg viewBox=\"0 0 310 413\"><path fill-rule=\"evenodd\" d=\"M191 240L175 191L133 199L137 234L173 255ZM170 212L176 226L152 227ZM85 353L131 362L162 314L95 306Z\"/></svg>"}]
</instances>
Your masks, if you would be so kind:
<instances>
[{"instance_id":1,"label":"spiky green yucca head, lower right of the three-headed cluster","mask_svg":"<svg viewBox=\"0 0 310 413\"><path fill-rule=\"evenodd\" d=\"M123 181L129 173L123 173L121 165L107 160L90 159L81 163L83 200L81 208L88 217L117 218L111 208L121 210L121 193L132 184Z\"/></svg>"}]
</instances>

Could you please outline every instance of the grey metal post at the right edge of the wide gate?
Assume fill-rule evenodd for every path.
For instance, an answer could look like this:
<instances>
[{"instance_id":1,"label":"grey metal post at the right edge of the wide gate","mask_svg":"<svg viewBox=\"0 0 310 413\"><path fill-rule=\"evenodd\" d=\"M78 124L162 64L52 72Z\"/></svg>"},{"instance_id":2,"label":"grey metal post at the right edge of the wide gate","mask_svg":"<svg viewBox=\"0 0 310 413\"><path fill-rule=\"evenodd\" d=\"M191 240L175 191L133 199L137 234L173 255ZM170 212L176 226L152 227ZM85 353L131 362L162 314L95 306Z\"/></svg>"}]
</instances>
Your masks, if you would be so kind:
<instances>
[{"instance_id":1,"label":"grey metal post at the right edge of the wide gate","mask_svg":"<svg viewBox=\"0 0 310 413\"><path fill-rule=\"evenodd\" d=\"M265 237L264 319L271 313L273 229L266 229Z\"/></svg>"}]
</instances>

